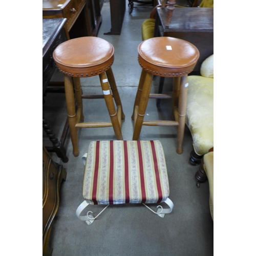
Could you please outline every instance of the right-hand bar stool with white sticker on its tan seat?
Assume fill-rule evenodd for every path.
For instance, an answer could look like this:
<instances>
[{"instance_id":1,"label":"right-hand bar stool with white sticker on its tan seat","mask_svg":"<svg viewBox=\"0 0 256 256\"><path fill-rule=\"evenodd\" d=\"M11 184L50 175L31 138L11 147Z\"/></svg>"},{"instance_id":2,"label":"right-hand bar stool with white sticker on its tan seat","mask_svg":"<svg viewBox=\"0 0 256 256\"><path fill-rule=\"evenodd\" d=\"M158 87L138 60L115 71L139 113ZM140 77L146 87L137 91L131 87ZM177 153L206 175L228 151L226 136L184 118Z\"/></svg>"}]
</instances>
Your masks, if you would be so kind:
<instances>
[{"instance_id":1,"label":"right-hand bar stool with white sticker on its tan seat","mask_svg":"<svg viewBox=\"0 0 256 256\"><path fill-rule=\"evenodd\" d=\"M185 129L187 75L193 71L199 58L198 49L182 39L173 37L153 37L138 46L139 63L142 73L134 102L134 134L138 140L142 125L178 126L177 153L182 154L182 142ZM153 75L174 77L173 95L150 94ZM172 111L174 121L143 121L148 98L173 98Z\"/></svg>"}]
</instances>

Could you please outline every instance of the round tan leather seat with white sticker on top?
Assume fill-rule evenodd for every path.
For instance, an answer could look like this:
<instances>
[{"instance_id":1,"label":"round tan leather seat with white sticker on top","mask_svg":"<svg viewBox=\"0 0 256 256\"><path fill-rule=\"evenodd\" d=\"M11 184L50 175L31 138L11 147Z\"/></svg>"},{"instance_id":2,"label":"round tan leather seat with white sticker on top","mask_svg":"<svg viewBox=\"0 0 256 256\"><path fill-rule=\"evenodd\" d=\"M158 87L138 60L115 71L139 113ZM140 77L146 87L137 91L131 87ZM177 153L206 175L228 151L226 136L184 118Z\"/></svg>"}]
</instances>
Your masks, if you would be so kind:
<instances>
[{"instance_id":1,"label":"round tan leather seat with white sticker on top","mask_svg":"<svg viewBox=\"0 0 256 256\"><path fill-rule=\"evenodd\" d=\"M199 51L190 42L173 37L153 37L138 46L139 63L147 72L178 76L193 71ZM165 73L165 75L164 75ZM180 74L182 73L182 74Z\"/></svg>"}]
</instances>

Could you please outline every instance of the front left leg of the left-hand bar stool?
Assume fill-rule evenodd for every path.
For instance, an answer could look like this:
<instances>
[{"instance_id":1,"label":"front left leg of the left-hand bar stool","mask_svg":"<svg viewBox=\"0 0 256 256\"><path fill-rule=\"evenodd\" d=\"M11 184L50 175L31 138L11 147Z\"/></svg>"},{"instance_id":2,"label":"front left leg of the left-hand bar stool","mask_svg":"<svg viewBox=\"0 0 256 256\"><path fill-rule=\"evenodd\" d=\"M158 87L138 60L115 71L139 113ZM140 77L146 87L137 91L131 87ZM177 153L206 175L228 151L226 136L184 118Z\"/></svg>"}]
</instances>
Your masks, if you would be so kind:
<instances>
[{"instance_id":1,"label":"front left leg of the left-hand bar stool","mask_svg":"<svg viewBox=\"0 0 256 256\"><path fill-rule=\"evenodd\" d=\"M73 155L75 157L78 157L79 151L78 151L78 140L77 140L77 128L75 127L76 125L75 97L74 97L72 77L65 75L64 83L65 83L66 103L67 103L67 109L68 109L70 137L73 145Z\"/></svg>"}]
</instances>

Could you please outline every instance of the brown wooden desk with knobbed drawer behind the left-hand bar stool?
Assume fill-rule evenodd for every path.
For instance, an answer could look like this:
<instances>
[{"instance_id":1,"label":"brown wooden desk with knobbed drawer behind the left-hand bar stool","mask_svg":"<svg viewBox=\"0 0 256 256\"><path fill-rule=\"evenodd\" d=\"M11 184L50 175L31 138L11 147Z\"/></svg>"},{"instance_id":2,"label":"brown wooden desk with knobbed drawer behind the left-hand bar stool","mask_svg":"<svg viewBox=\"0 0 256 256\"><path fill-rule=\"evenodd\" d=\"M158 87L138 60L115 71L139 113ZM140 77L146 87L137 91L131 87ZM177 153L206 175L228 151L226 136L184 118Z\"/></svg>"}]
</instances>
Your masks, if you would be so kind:
<instances>
[{"instance_id":1,"label":"brown wooden desk with knobbed drawer behind the left-hand bar stool","mask_svg":"<svg viewBox=\"0 0 256 256\"><path fill-rule=\"evenodd\" d=\"M96 36L102 22L99 0L42 0L43 18L67 18L68 39Z\"/></svg>"}]
</instances>

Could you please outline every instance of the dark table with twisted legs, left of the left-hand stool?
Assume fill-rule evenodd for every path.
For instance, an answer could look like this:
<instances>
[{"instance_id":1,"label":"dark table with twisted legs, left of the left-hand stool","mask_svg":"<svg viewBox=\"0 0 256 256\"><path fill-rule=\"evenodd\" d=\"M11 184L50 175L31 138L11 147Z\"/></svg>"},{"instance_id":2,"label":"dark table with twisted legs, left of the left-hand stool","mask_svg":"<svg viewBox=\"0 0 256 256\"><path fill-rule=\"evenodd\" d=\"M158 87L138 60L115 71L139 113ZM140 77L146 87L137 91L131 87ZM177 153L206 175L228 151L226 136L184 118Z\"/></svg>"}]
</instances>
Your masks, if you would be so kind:
<instances>
[{"instance_id":1,"label":"dark table with twisted legs, left of the left-hand stool","mask_svg":"<svg viewBox=\"0 0 256 256\"><path fill-rule=\"evenodd\" d=\"M47 87L51 77L56 70L56 65L53 61L53 51L55 48L67 40L65 30L66 18L43 18L42 19L42 95L47 92ZM42 127L48 138L52 142L52 146L47 146L48 152L55 152L64 163L68 162L66 155L65 141L68 133L68 123L66 123L60 140L55 136L51 124L47 120L47 116L43 113Z\"/></svg>"}]
</instances>

